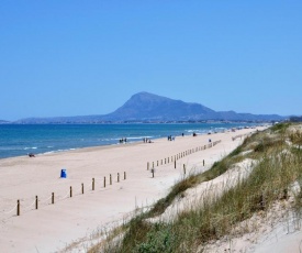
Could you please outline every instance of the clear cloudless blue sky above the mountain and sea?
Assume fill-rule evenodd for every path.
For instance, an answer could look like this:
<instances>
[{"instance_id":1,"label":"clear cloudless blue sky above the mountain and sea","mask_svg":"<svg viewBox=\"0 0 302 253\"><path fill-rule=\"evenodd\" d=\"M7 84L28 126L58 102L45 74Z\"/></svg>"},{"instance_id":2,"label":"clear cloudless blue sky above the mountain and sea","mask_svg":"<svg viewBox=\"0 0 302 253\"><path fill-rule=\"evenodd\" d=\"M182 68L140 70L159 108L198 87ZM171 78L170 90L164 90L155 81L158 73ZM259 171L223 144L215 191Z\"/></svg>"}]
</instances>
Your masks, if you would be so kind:
<instances>
[{"instance_id":1,"label":"clear cloudless blue sky above the mountain and sea","mask_svg":"<svg viewBox=\"0 0 302 253\"><path fill-rule=\"evenodd\" d=\"M302 114L301 0L0 2L0 119L105 114L148 91Z\"/></svg>"}]
</instances>

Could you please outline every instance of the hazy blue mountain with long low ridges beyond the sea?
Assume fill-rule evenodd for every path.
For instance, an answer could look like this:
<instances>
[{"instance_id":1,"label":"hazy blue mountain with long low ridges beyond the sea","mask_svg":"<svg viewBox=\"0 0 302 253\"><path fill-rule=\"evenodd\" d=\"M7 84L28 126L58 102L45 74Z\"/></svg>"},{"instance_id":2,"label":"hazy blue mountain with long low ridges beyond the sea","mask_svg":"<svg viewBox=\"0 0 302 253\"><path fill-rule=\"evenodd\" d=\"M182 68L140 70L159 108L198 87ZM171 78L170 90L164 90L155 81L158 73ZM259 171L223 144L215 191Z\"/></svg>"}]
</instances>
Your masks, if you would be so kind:
<instances>
[{"instance_id":1,"label":"hazy blue mountain with long low ridges beyond the sea","mask_svg":"<svg viewBox=\"0 0 302 253\"><path fill-rule=\"evenodd\" d=\"M250 114L235 111L214 111L200 103L183 102L148 92L133 95L122 107L104 116L29 118L15 123L102 123L128 121L281 121L277 114Z\"/></svg>"}]
</instances>

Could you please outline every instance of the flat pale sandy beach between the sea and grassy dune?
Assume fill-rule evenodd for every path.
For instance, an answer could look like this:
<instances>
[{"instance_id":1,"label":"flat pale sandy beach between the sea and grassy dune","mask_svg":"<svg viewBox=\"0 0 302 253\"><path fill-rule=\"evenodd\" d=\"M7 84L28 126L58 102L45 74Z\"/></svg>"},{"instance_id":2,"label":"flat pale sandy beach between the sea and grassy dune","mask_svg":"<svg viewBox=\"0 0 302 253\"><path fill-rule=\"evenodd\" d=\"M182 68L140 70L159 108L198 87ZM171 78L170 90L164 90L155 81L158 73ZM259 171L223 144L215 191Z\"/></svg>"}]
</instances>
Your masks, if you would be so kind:
<instances>
[{"instance_id":1,"label":"flat pale sandy beach between the sea and grassy dune","mask_svg":"<svg viewBox=\"0 0 302 253\"><path fill-rule=\"evenodd\" d=\"M0 160L1 251L60 252L77 240L89 239L99 228L122 221L135 208L149 206L164 197L183 177L183 164L187 174L205 170L239 145L244 135L255 131L257 129L243 129L211 135L177 136L175 141L160 139L153 143ZM233 140L235 136L238 138ZM209 145L209 139L212 143L221 142L211 148L197 151ZM190 150L194 152L188 154ZM171 160L183 152L188 155L179 157L175 168ZM154 163L154 178L150 169L147 170L147 163L150 167ZM60 178L63 168L67 178ZM16 216L18 199L20 216ZM86 249L80 250L85 252Z\"/></svg>"}]
</instances>

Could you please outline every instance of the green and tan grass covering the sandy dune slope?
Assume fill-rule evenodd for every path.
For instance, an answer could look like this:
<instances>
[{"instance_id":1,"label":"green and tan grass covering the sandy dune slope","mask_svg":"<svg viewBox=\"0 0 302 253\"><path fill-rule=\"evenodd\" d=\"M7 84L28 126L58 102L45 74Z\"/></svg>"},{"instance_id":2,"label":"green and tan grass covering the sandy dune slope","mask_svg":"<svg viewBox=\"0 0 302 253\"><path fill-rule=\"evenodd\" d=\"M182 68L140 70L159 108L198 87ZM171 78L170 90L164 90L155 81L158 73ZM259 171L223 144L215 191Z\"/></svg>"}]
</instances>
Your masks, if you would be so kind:
<instances>
[{"instance_id":1,"label":"green and tan grass covering the sandy dune slope","mask_svg":"<svg viewBox=\"0 0 302 253\"><path fill-rule=\"evenodd\" d=\"M247 138L211 169L183 178L148 212L125 223L121 240L107 240L102 248L93 248L91 252L202 252L212 240L232 234L239 222L254 213L266 212L276 201L288 199L293 183L300 187L293 207L297 213L301 213L302 133L288 131L290 127L294 125L276 124ZM163 213L188 188L212 180L245 158L257 162L249 176L238 179L234 187L203 199L198 208L188 208L174 221L147 221ZM236 232L244 233L246 229Z\"/></svg>"}]
</instances>

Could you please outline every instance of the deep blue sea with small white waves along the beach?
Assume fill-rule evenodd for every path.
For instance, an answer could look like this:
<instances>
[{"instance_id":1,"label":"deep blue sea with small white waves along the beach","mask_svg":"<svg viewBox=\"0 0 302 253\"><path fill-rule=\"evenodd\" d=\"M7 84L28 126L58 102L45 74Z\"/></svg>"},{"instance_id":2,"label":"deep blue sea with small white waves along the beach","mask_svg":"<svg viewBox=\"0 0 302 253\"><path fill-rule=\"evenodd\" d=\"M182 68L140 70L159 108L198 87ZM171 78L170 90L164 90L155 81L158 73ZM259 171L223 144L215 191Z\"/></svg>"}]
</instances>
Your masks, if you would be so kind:
<instances>
[{"instance_id":1,"label":"deep blue sea with small white waves along the beach","mask_svg":"<svg viewBox=\"0 0 302 253\"><path fill-rule=\"evenodd\" d=\"M0 158L61 152L89 146L142 142L143 138L208 134L251 123L167 123L167 124L0 124Z\"/></svg>"}]
</instances>

